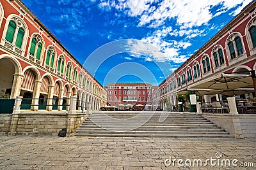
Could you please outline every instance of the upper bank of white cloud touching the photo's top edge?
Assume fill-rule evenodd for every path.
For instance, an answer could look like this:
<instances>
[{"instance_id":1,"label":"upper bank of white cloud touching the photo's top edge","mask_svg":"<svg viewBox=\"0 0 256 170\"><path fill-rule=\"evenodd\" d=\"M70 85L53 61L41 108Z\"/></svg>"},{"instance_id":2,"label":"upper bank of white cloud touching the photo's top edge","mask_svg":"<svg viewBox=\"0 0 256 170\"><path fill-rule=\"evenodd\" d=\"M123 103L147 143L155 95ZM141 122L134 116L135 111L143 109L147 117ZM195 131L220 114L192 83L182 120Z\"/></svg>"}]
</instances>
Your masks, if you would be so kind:
<instances>
[{"instance_id":1,"label":"upper bank of white cloud touching the photo's top edge","mask_svg":"<svg viewBox=\"0 0 256 170\"><path fill-rule=\"evenodd\" d=\"M149 24L150 27L163 25L169 18L177 18L177 24L184 28L207 24L213 16L211 8L221 5L217 15L242 4L235 11L235 15L252 0L163 0L159 6L151 5L154 0L122 0L116 3L115 0L101 0L100 8L109 10L116 8L122 10L130 17L139 17L139 26Z\"/></svg>"}]
</instances>

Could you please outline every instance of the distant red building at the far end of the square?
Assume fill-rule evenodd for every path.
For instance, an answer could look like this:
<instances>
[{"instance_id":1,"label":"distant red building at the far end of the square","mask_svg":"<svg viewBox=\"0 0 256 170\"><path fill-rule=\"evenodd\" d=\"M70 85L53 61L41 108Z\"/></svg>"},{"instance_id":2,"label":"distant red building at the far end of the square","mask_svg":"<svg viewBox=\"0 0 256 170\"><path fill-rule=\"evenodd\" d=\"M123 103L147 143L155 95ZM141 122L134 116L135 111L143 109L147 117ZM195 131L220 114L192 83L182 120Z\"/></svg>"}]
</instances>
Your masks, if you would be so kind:
<instances>
[{"instance_id":1,"label":"distant red building at the far end of the square","mask_svg":"<svg viewBox=\"0 0 256 170\"><path fill-rule=\"evenodd\" d=\"M152 106L152 85L148 83L111 83L107 88L108 103L120 110Z\"/></svg>"}]
</instances>

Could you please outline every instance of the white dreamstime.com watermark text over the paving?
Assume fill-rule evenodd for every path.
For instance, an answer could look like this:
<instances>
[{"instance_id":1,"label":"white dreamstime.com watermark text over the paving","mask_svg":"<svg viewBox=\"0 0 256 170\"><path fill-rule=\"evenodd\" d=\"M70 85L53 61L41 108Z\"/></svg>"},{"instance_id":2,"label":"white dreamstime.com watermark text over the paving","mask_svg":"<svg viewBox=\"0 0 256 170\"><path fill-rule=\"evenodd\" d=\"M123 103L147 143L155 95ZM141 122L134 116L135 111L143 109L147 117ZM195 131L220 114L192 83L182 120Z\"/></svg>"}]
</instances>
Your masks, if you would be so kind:
<instances>
[{"instance_id":1,"label":"white dreamstime.com watermark text over the paving","mask_svg":"<svg viewBox=\"0 0 256 170\"><path fill-rule=\"evenodd\" d=\"M166 167L253 167L253 162L239 162L237 159L223 159L221 152L215 154L215 158L210 159L169 159L164 160Z\"/></svg>"}]
</instances>

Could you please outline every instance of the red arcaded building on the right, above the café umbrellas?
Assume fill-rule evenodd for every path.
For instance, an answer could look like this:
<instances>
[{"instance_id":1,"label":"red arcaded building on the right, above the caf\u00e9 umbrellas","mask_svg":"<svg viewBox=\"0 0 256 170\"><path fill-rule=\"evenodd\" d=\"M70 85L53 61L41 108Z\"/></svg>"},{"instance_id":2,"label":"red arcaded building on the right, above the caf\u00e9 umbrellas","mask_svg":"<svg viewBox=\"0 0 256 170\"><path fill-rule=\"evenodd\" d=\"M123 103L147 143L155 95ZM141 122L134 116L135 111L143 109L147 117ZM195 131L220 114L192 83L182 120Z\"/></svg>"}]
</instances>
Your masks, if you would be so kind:
<instances>
[{"instance_id":1,"label":"red arcaded building on the right, above the caf\u00e9 umbrellas","mask_svg":"<svg viewBox=\"0 0 256 170\"><path fill-rule=\"evenodd\" d=\"M256 69L255 6L255 1L246 6L182 66L170 74L154 90L153 104L159 104L163 109L164 99L168 99L172 105L177 105L177 94L198 87L198 84L205 80L211 81L211 78L222 73L252 74L253 84L250 84L252 85L250 87L255 89L256 81L253 75ZM211 87L205 86L204 89L211 89ZM255 90L245 95L252 98L255 96L253 91ZM211 97L221 100L223 96L221 94L206 95L205 102L210 102Z\"/></svg>"}]
</instances>

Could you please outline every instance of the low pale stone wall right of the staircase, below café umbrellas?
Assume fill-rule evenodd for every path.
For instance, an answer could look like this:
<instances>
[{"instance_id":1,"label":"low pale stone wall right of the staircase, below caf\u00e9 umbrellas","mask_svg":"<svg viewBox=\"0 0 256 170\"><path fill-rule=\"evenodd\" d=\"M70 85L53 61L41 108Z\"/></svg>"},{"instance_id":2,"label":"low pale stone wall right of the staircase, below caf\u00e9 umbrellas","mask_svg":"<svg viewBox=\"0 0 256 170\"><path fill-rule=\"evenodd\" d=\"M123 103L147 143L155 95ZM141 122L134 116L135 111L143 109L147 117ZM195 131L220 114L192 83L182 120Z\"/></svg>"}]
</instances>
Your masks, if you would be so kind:
<instances>
[{"instance_id":1,"label":"low pale stone wall right of the staircase, below caf\u00e9 umbrellas","mask_svg":"<svg viewBox=\"0 0 256 170\"><path fill-rule=\"evenodd\" d=\"M212 114L204 113L203 117L207 118L214 124L218 125L232 135L236 134L235 125L237 120L240 122L241 132L244 138L256 138L256 115L230 115L230 114Z\"/></svg>"}]
</instances>

